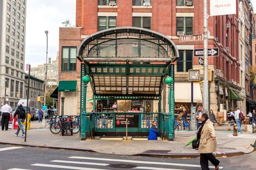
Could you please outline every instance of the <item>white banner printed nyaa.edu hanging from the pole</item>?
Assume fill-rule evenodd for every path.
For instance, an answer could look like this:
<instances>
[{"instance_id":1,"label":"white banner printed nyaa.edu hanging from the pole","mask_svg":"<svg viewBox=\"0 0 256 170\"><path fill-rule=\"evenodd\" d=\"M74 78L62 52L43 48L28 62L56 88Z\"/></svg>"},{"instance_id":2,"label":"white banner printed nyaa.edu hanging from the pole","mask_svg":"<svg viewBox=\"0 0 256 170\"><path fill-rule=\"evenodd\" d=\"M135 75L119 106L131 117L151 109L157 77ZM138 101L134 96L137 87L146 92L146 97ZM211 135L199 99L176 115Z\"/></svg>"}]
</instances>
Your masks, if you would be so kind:
<instances>
[{"instance_id":1,"label":"white banner printed nyaa.edu hanging from the pole","mask_svg":"<svg viewBox=\"0 0 256 170\"><path fill-rule=\"evenodd\" d=\"M211 0L210 16L230 15L237 13L237 0Z\"/></svg>"}]
</instances>

